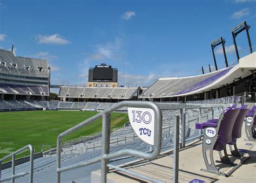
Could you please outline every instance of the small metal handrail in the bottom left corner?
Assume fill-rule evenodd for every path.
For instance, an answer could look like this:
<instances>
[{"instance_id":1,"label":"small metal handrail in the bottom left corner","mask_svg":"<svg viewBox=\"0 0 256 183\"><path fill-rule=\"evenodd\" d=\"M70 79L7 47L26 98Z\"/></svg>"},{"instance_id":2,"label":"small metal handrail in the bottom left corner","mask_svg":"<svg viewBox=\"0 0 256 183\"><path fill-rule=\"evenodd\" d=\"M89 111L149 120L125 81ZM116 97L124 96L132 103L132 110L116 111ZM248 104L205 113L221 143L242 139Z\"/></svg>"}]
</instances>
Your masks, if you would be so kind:
<instances>
[{"instance_id":1,"label":"small metal handrail in the bottom left corner","mask_svg":"<svg viewBox=\"0 0 256 183\"><path fill-rule=\"evenodd\" d=\"M21 172L21 173L15 174L15 154L23 152L26 149L30 150L30 171L29 172ZM5 160L5 159L8 159L10 157L12 157L12 162L11 162L12 175L10 177L8 177L8 178L1 179L1 164L2 164L2 161ZM30 174L29 182L32 183L33 182L33 161L34 161L34 149L33 149L33 146L30 145L30 144L22 147L21 149L18 149L15 152L12 152L8 156L0 159L0 182L3 182L3 181L11 179L11 181L14 183L15 182L15 178L24 177L25 175Z\"/></svg>"}]
</instances>

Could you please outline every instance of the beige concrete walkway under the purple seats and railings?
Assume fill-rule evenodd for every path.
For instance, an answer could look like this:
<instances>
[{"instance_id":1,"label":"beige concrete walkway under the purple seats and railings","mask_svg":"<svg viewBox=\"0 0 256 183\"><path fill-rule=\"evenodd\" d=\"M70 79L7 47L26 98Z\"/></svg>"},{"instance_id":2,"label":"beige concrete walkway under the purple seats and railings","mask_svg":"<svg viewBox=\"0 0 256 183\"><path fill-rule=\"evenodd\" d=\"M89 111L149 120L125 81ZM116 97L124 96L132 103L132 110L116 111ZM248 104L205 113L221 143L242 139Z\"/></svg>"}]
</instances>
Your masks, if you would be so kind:
<instances>
[{"instance_id":1,"label":"beige concrete walkway under the purple seats and railings","mask_svg":"<svg viewBox=\"0 0 256 183\"><path fill-rule=\"evenodd\" d=\"M243 126L244 127L244 126ZM238 139L238 149L247 150L244 156L250 154L241 167L239 167L230 177L226 178L221 175L202 172L201 168L206 168L203 154L202 141L193 142L179 151L179 182L189 182L193 179L200 179L205 182L256 182L256 147L255 142L246 139L245 130L242 129L242 138ZM229 147L227 147L228 153ZM231 157L234 163L239 163L238 158ZM219 160L219 154L214 151L214 160ZM137 160L119 167L127 170L146 175L150 178L158 179L165 182L172 182L172 151L161 153L158 159L153 161ZM227 173L232 166L215 163L221 172ZM100 170L92 172L91 182L99 182ZM107 174L107 182L147 182L145 180L134 178L120 171L110 169Z\"/></svg>"}]
</instances>

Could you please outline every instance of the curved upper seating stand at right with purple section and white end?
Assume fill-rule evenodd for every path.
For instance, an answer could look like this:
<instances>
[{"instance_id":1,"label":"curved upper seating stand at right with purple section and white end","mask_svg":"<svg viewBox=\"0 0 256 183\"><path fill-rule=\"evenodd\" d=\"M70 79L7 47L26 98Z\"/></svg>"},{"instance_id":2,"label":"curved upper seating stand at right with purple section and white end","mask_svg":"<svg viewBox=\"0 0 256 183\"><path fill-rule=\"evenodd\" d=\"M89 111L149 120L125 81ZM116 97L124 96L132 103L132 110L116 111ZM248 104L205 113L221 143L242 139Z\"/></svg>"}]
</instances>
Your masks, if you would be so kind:
<instances>
[{"instance_id":1,"label":"curved upper seating stand at right with purple section and white end","mask_svg":"<svg viewBox=\"0 0 256 183\"><path fill-rule=\"evenodd\" d=\"M184 78L159 78L139 98L187 96L220 88L252 74L256 53L240 58L239 64L215 72Z\"/></svg>"}]
</instances>

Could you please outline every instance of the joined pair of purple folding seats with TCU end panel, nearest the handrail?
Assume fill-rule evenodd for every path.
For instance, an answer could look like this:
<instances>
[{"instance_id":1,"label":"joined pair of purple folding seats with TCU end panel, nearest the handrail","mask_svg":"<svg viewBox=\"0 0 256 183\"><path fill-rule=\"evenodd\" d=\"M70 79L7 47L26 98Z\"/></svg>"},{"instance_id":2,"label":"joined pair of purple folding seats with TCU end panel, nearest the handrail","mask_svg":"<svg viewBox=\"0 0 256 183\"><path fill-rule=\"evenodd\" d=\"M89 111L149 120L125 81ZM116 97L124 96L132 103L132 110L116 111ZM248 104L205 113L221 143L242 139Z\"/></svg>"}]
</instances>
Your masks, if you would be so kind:
<instances>
[{"instance_id":1,"label":"joined pair of purple folding seats with TCU end panel, nearest the handrail","mask_svg":"<svg viewBox=\"0 0 256 183\"><path fill-rule=\"evenodd\" d=\"M243 107L244 108L244 107ZM242 111L242 112L241 112ZM241 126L248 109L227 109L222 112L219 119L210 119L206 123L196 124L196 129L204 129L203 138L203 157L207 170L219 175L230 176L231 173L239 166L233 167L226 174L218 170L214 164L213 150L219 151L221 163L234 165L227 156L226 145L235 144L237 138L241 137ZM221 151L224 150L226 156L222 156ZM207 156L207 151L210 151L210 156ZM246 157L245 159L247 159ZM217 161L218 162L218 161ZM239 165L244 162L241 161Z\"/></svg>"}]
</instances>

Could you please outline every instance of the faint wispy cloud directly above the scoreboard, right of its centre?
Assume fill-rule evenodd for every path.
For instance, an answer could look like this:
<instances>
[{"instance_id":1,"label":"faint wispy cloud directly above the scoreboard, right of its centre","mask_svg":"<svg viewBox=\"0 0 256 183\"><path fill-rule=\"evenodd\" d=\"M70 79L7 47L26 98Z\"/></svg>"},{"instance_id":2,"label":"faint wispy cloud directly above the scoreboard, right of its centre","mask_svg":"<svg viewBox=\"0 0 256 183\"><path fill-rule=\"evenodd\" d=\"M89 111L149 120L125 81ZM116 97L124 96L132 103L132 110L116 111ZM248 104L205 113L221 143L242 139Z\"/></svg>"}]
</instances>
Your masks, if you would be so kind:
<instances>
[{"instance_id":1,"label":"faint wispy cloud directly above the scoreboard, right of its centre","mask_svg":"<svg viewBox=\"0 0 256 183\"><path fill-rule=\"evenodd\" d=\"M91 60L103 60L103 59L111 59L117 60L119 58L120 53L120 45L122 39L116 38L114 41L107 41L106 44L96 46L95 53L89 56Z\"/></svg>"}]
</instances>

